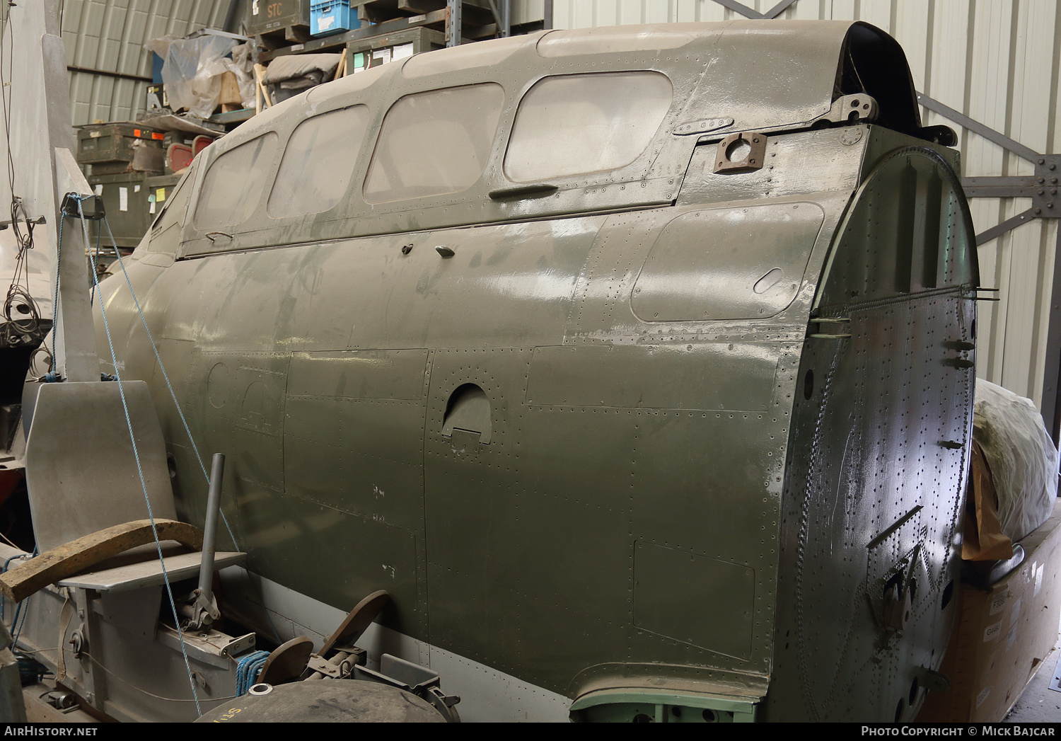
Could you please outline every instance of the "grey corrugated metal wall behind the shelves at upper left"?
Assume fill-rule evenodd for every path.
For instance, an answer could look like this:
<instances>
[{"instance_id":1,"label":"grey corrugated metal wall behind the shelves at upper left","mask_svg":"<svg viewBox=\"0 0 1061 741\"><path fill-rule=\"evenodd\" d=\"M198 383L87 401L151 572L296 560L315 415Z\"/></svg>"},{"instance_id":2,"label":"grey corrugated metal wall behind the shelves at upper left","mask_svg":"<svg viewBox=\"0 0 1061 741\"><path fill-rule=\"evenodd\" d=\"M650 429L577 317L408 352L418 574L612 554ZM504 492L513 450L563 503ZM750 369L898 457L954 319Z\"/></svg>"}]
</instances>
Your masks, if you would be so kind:
<instances>
[{"instance_id":1,"label":"grey corrugated metal wall behind the shelves at upper left","mask_svg":"<svg viewBox=\"0 0 1061 741\"><path fill-rule=\"evenodd\" d=\"M35 0L30 0L35 1ZM67 64L116 72L70 72L73 124L132 121L143 110L152 54L144 41L202 28L221 29L228 0L65 0Z\"/></svg>"}]
</instances>

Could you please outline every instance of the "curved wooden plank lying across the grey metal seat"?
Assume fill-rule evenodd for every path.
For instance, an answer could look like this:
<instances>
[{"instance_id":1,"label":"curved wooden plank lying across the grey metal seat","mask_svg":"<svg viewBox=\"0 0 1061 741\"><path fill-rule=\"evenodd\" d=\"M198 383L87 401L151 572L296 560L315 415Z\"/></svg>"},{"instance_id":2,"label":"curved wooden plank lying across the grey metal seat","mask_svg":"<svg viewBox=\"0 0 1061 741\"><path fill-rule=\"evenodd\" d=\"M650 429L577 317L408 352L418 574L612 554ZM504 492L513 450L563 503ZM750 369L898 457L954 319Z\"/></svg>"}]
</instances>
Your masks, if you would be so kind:
<instances>
[{"instance_id":1,"label":"curved wooden plank lying across the grey metal seat","mask_svg":"<svg viewBox=\"0 0 1061 741\"><path fill-rule=\"evenodd\" d=\"M159 540L176 540L194 550L203 547L203 531L187 522L155 520ZM63 544L0 574L0 591L21 602L49 584L72 576L137 546L154 542L151 520L134 520Z\"/></svg>"}]
</instances>

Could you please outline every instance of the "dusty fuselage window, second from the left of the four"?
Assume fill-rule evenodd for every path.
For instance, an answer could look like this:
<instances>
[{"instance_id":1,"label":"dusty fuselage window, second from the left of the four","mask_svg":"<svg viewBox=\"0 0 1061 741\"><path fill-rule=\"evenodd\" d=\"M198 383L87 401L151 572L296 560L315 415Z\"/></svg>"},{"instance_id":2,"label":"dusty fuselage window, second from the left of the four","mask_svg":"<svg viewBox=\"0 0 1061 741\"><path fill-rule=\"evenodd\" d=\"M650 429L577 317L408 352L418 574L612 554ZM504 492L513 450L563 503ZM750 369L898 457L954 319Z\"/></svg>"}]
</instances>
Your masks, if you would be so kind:
<instances>
[{"instance_id":1,"label":"dusty fuselage window, second from the left of the four","mask_svg":"<svg viewBox=\"0 0 1061 741\"><path fill-rule=\"evenodd\" d=\"M268 214L319 213L337 204L353 175L368 118L367 106L354 105L298 124L283 151Z\"/></svg>"}]
</instances>

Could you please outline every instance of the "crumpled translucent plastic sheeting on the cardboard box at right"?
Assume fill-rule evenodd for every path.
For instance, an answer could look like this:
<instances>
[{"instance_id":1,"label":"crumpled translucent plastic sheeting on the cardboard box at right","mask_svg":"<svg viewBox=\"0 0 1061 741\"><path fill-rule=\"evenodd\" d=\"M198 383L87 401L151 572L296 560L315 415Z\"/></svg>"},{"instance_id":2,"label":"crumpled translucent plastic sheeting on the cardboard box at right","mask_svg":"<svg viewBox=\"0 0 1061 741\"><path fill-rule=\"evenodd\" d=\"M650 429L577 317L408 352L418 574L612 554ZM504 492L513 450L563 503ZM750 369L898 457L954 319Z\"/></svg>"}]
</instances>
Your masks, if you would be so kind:
<instances>
[{"instance_id":1,"label":"crumpled translucent plastic sheeting on the cardboard box at right","mask_svg":"<svg viewBox=\"0 0 1061 741\"><path fill-rule=\"evenodd\" d=\"M976 379L973 438L991 468L1002 532L1016 542L1050 516L1058 451L1031 399L981 379Z\"/></svg>"}]
</instances>

